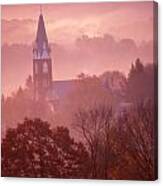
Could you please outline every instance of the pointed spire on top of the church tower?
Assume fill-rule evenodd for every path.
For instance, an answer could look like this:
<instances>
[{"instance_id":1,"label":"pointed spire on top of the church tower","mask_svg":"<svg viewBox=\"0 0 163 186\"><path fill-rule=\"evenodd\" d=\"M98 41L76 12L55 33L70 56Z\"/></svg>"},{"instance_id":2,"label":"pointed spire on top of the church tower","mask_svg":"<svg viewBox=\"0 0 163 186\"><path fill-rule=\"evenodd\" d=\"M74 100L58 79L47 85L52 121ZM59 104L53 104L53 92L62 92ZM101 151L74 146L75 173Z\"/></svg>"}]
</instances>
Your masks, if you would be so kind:
<instances>
[{"instance_id":1,"label":"pointed spire on top of the church tower","mask_svg":"<svg viewBox=\"0 0 163 186\"><path fill-rule=\"evenodd\" d=\"M34 50L36 50L36 58L48 58L49 57L50 48L48 45L48 38L47 38L44 19L43 19L42 14L40 14L39 16Z\"/></svg>"}]
</instances>

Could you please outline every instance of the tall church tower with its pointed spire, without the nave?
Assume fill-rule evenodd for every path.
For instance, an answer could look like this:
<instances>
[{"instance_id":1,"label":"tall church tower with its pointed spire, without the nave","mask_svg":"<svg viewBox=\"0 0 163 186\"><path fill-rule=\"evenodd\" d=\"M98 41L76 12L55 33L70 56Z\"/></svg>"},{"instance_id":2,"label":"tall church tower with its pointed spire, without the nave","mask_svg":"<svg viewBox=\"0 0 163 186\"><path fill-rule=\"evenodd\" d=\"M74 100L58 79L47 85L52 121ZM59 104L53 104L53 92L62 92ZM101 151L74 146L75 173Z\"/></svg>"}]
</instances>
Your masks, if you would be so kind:
<instances>
[{"instance_id":1,"label":"tall church tower with its pointed spire, without the nave","mask_svg":"<svg viewBox=\"0 0 163 186\"><path fill-rule=\"evenodd\" d=\"M33 46L33 82L34 99L45 99L52 86L52 61L42 13Z\"/></svg>"}]
</instances>

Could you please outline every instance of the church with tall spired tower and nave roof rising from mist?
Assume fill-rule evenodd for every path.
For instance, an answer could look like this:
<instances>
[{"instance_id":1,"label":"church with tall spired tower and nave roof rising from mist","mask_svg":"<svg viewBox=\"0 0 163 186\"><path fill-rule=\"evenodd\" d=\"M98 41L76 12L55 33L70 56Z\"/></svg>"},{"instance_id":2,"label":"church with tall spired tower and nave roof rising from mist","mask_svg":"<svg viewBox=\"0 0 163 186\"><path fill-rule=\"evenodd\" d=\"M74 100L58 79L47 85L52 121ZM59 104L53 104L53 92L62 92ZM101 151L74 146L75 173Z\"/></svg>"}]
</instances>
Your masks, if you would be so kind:
<instances>
[{"instance_id":1,"label":"church with tall spired tower and nave roof rising from mist","mask_svg":"<svg viewBox=\"0 0 163 186\"><path fill-rule=\"evenodd\" d=\"M53 81L53 61L42 13L39 16L36 39L33 45L34 99L53 102L67 95L74 80Z\"/></svg>"}]
</instances>

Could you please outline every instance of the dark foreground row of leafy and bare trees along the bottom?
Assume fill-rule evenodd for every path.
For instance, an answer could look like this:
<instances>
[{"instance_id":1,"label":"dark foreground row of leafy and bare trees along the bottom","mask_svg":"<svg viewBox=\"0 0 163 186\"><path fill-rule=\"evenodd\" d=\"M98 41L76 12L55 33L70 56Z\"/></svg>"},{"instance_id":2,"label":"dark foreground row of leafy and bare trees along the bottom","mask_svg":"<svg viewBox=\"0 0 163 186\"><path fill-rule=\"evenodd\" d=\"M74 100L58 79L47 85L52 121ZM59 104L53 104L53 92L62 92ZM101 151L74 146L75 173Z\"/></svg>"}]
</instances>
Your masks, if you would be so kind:
<instances>
[{"instance_id":1,"label":"dark foreground row of leafy and bare trees along the bottom","mask_svg":"<svg viewBox=\"0 0 163 186\"><path fill-rule=\"evenodd\" d=\"M110 107L80 110L74 125L82 142L66 127L50 128L25 119L2 141L2 176L154 180L153 106L132 108L114 118Z\"/></svg>"}]
</instances>

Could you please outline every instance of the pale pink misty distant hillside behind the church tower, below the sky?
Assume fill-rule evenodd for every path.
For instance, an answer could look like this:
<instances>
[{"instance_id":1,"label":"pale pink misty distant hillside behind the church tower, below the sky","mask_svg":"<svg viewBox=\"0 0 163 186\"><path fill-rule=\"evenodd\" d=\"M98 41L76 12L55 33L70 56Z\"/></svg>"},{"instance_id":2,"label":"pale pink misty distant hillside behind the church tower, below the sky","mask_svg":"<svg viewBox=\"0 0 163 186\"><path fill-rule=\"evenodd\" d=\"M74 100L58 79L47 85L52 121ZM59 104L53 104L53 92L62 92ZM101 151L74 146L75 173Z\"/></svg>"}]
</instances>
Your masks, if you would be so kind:
<instances>
[{"instance_id":1,"label":"pale pink misty distant hillside behind the church tower, below the sky","mask_svg":"<svg viewBox=\"0 0 163 186\"><path fill-rule=\"evenodd\" d=\"M74 79L81 72L101 74L107 70L129 71L131 63L139 56L144 63L151 63L151 42L139 46L132 39L116 41L111 35L76 39L73 46L51 44L53 78ZM19 73L17 70L19 68ZM32 46L13 44L2 46L3 92L10 94L32 74ZM21 78L20 78L21 77ZM10 82L10 83L8 83Z\"/></svg>"}]
</instances>

